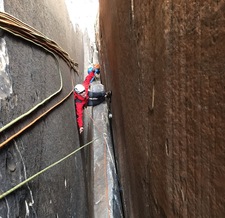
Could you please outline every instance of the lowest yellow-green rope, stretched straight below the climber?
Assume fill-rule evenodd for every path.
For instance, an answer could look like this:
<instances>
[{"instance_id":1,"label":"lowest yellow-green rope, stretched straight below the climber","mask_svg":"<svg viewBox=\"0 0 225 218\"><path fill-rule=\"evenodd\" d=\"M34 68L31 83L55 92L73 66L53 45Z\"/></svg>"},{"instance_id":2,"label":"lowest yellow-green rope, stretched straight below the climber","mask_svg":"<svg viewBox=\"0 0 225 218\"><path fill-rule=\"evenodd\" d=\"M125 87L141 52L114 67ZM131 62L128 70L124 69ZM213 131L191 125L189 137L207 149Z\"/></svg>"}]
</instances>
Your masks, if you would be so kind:
<instances>
[{"instance_id":1,"label":"lowest yellow-green rope, stretched straight below the climber","mask_svg":"<svg viewBox=\"0 0 225 218\"><path fill-rule=\"evenodd\" d=\"M56 161L55 163L49 165L48 167L44 168L43 170L39 171L38 173L34 174L33 176L29 177L28 179L24 180L23 182L19 183L18 185L14 186L13 188L9 189L8 191L4 192L3 194L0 195L0 199L6 197L7 195L9 195L10 193L12 193L13 191L17 190L18 188L20 188L21 186L23 186L24 184L28 183L29 181L33 180L34 178L38 177L40 174L44 173L45 171L51 169L52 167L56 166L57 164L61 163L62 161L66 160L67 158L69 158L70 156L72 156L73 154L77 153L78 151L80 151L81 149L85 148L86 146L90 145L91 143L93 143L94 141L96 141L99 138L96 138L90 142L88 142L87 144L79 147L78 149L76 149L75 151L71 152L70 154L68 154L67 156L65 156L64 158Z\"/></svg>"}]
</instances>

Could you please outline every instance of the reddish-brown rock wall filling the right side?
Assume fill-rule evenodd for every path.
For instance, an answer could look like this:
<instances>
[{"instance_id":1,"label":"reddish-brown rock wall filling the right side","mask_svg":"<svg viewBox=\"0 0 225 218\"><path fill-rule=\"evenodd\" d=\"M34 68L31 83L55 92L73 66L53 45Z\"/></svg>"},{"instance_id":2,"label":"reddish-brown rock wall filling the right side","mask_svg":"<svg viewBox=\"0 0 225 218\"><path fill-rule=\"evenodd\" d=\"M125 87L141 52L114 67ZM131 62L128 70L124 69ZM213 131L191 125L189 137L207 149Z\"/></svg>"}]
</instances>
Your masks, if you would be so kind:
<instances>
[{"instance_id":1,"label":"reddish-brown rock wall filling the right side","mask_svg":"<svg viewBox=\"0 0 225 218\"><path fill-rule=\"evenodd\" d=\"M225 3L100 0L127 217L225 216Z\"/></svg>"}]
</instances>

